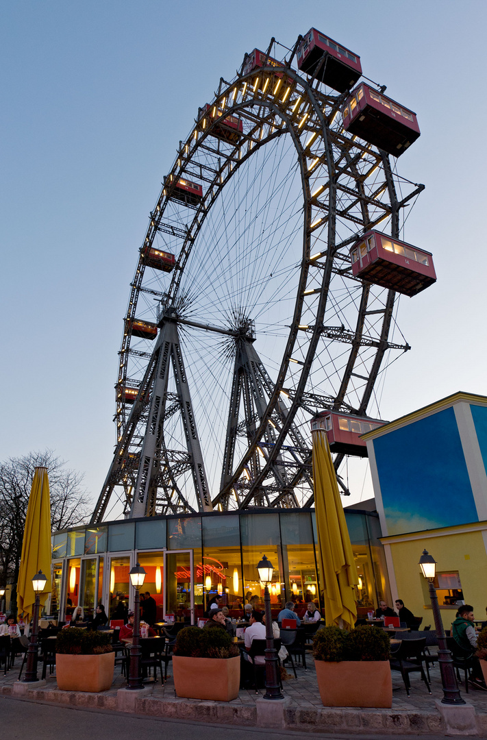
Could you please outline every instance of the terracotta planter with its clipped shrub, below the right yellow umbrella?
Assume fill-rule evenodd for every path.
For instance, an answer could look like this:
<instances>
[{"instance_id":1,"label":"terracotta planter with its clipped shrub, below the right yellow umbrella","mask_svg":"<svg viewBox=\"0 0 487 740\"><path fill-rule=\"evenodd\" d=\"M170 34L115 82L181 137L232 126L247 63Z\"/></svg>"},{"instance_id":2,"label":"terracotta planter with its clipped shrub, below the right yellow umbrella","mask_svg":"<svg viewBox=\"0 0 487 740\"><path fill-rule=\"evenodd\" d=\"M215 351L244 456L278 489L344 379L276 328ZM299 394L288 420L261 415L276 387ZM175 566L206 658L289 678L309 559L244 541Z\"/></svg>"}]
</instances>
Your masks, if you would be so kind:
<instances>
[{"instance_id":1,"label":"terracotta planter with its clipped shrub, below the right yellow umbrella","mask_svg":"<svg viewBox=\"0 0 487 740\"><path fill-rule=\"evenodd\" d=\"M389 636L363 625L350 632L318 630L313 640L316 677L326 707L392 707Z\"/></svg>"}]
</instances>

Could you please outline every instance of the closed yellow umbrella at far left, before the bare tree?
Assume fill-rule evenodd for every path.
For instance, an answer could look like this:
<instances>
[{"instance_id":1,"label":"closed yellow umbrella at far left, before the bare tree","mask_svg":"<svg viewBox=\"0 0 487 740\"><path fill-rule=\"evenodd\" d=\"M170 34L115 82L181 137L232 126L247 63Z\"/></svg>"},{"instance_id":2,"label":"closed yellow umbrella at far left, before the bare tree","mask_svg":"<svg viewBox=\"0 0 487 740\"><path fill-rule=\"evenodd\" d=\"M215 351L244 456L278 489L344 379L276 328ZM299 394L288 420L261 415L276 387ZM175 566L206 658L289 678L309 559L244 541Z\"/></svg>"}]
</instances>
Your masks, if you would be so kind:
<instances>
[{"instance_id":1,"label":"closed yellow umbrella at far left, before the bare tree","mask_svg":"<svg viewBox=\"0 0 487 740\"><path fill-rule=\"evenodd\" d=\"M36 594L32 579L38 571L47 576L46 587L40 595L44 606L51 591L51 505L47 468L43 467L34 471L17 582L17 607L19 612L24 612L26 622L30 622L33 615Z\"/></svg>"}]
</instances>

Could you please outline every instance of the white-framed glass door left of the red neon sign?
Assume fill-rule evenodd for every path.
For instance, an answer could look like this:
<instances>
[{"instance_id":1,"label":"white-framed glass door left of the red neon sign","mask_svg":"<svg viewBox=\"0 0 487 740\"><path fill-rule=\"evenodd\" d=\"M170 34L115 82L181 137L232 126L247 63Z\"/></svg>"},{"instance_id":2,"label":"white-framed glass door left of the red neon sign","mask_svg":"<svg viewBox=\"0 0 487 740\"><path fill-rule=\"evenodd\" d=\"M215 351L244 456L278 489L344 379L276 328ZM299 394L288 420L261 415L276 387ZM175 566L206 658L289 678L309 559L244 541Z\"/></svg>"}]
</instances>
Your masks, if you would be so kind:
<instances>
[{"instance_id":1,"label":"white-framed glass door left of the red neon sign","mask_svg":"<svg viewBox=\"0 0 487 740\"><path fill-rule=\"evenodd\" d=\"M195 585L192 550L164 552L164 621L195 623Z\"/></svg>"}]
</instances>

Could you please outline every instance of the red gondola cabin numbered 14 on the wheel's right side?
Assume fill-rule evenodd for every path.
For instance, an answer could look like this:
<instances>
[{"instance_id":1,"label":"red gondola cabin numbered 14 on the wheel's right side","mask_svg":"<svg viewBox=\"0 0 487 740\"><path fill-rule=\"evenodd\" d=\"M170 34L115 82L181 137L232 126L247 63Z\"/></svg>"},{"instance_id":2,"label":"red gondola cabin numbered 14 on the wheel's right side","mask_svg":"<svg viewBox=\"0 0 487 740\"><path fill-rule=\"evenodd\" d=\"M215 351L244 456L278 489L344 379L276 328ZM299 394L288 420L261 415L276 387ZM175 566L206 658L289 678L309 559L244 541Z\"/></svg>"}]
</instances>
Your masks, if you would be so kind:
<instances>
[{"instance_id":1,"label":"red gondola cabin numbered 14 on the wheel's right side","mask_svg":"<svg viewBox=\"0 0 487 740\"><path fill-rule=\"evenodd\" d=\"M436 281L431 252L374 230L350 249L352 274L412 297Z\"/></svg>"}]
</instances>

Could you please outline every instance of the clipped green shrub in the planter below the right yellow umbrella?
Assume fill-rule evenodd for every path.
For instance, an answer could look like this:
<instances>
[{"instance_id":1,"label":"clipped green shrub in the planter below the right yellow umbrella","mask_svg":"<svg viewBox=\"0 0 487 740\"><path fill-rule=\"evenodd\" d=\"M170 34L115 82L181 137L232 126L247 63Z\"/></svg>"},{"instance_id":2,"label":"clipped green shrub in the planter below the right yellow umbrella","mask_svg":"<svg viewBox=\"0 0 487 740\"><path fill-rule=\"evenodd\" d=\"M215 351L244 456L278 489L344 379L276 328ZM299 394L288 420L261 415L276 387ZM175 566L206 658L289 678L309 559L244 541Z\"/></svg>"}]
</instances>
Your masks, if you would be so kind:
<instances>
[{"instance_id":1,"label":"clipped green shrub in the planter below the right yellow umbrella","mask_svg":"<svg viewBox=\"0 0 487 740\"><path fill-rule=\"evenodd\" d=\"M378 627L362 625L350 632L324 627L315 634L313 657L326 662L389 660L389 636Z\"/></svg>"}]
</instances>

